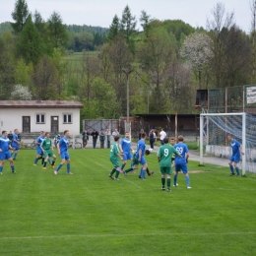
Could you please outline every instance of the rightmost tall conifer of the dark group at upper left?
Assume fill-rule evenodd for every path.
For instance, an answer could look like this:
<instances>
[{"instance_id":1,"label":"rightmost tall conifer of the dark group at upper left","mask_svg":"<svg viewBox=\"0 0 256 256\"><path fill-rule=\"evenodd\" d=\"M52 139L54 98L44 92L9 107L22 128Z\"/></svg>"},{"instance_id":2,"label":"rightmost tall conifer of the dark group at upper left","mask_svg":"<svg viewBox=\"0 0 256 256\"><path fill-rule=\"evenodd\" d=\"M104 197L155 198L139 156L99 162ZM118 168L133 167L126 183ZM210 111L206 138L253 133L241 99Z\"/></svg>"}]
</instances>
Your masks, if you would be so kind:
<instances>
[{"instance_id":1,"label":"rightmost tall conifer of the dark group at upper left","mask_svg":"<svg viewBox=\"0 0 256 256\"><path fill-rule=\"evenodd\" d=\"M53 12L48 19L48 31L53 48L65 47L68 43L68 33L62 24L61 16Z\"/></svg>"}]
</instances>

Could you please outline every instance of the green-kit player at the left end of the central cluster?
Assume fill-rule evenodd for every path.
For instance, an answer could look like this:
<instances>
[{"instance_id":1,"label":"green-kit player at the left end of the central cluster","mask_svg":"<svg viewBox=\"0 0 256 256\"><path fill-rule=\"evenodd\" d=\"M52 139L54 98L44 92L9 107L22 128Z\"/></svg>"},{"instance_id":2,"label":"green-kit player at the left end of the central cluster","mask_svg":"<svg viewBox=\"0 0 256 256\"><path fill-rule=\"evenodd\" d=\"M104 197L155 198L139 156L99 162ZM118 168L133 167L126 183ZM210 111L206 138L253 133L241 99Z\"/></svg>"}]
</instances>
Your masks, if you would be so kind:
<instances>
[{"instance_id":1,"label":"green-kit player at the left end of the central cluster","mask_svg":"<svg viewBox=\"0 0 256 256\"><path fill-rule=\"evenodd\" d=\"M119 140L120 140L119 136L114 137L114 142L110 147L110 156L109 156L109 159L113 163L114 168L109 173L108 177L111 179L115 179L115 180L119 180L118 176L119 176L119 173L121 170L121 167L120 167L121 163L120 163L119 159L123 160L123 158L122 158L123 154L121 154L120 150L119 150ZM115 173L115 177L113 178L112 175L114 173Z\"/></svg>"}]
</instances>

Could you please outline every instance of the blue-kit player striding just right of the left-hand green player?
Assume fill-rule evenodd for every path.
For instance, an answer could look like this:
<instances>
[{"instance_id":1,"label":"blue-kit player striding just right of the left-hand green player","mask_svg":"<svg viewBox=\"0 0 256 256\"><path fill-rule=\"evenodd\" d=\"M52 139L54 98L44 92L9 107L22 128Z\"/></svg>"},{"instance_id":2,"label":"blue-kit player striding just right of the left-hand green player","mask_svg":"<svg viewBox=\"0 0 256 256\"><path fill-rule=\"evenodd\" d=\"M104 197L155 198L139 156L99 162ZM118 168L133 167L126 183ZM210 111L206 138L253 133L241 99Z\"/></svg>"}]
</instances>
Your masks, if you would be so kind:
<instances>
[{"instance_id":1,"label":"blue-kit player striding just right of the left-hand green player","mask_svg":"<svg viewBox=\"0 0 256 256\"><path fill-rule=\"evenodd\" d=\"M69 147L69 131L65 130L64 131L64 137L62 137L59 141L59 143L57 144L57 148L58 148L58 153L61 157L61 162L58 165L58 167L54 170L54 174L57 175L59 169L62 167L62 165L66 162L67 160L67 173L68 174L73 174L70 171L70 157L68 154L68 147Z\"/></svg>"}]
</instances>

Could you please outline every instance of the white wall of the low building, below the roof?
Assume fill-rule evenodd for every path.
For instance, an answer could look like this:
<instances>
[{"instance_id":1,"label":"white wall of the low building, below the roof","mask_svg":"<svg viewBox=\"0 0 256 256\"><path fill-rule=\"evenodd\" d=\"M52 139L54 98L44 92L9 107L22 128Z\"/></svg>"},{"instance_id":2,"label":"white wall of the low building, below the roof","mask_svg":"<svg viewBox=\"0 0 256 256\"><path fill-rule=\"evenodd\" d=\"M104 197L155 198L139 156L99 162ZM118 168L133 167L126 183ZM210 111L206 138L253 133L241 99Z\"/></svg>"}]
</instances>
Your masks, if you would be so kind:
<instances>
[{"instance_id":1,"label":"white wall of the low building, below the roof","mask_svg":"<svg viewBox=\"0 0 256 256\"><path fill-rule=\"evenodd\" d=\"M44 124L35 123L38 113L45 114ZM72 113L72 124L63 124L63 113ZM0 132L16 128L23 132L23 116L31 116L31 132L50 132L51 116L58 116L60 133L69 130L71 135L80 134L80 108L0 108Z\"/></svg>"}]
</instances>

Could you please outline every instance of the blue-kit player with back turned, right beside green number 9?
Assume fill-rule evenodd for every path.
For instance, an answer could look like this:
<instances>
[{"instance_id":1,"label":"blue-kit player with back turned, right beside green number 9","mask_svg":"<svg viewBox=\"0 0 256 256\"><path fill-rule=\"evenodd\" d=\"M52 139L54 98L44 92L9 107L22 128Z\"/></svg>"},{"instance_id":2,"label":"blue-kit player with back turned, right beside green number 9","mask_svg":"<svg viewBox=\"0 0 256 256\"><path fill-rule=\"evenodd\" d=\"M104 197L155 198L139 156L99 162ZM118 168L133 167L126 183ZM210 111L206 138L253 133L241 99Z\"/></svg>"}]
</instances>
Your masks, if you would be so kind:
<instances>
[{"instance_id":1,"label":"blue-kit player with back turned, right beside green number 9","mask_svg":"<svg viewBox=\"0 0 256 256\"><path fill-rule=\"evenodd\" d=\"M182 158L175 157L175 173L173 176L173 187L177 187L177 177L178 177L178 172L182 170L183 174L185 175L186 183L187 183L187 188L190 189L190 180L189 180L189 175L188 175L188 169L187 169L187 161L189 158L189 153L188 153L188 147L185 143L183 143L184 138L182 135L178 136L178 143L174 145L174 149L182 156Z\"/></svg>"}]
</instances>

